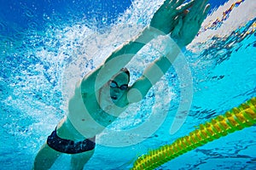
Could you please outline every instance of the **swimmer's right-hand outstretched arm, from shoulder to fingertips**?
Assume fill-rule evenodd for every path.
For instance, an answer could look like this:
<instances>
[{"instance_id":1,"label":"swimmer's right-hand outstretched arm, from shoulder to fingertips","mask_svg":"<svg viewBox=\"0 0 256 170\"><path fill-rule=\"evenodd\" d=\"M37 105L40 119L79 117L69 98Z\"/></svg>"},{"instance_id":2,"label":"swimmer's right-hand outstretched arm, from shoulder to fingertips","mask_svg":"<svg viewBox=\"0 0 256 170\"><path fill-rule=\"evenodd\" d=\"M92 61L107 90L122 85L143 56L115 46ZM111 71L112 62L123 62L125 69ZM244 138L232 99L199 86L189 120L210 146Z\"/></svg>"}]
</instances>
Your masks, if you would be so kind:
<instances>
[{"instance_id":1,"label":"swimmer's right-hand outstretched arm, from shoulder to fingertips","mask_svg":"<svg viewBox=\"0 0 256 170\"><path fill-rule=\"evenodd\" d=\"M167 48L163 56L155 59L148 65L143 76L140 77L132 86L127 94L129 103L137 102L148 93L148 90L160 80L166 71L171 67L172 62L180 53L180 48L185 47L194 39L201 27L202 21L206 18L209 4L207 0L195 0L190 11L183 13L177 18L177 25L172 28L171 37L175 38L177 44L172 44L172 48Z\"/></svg>"}]
</instances>

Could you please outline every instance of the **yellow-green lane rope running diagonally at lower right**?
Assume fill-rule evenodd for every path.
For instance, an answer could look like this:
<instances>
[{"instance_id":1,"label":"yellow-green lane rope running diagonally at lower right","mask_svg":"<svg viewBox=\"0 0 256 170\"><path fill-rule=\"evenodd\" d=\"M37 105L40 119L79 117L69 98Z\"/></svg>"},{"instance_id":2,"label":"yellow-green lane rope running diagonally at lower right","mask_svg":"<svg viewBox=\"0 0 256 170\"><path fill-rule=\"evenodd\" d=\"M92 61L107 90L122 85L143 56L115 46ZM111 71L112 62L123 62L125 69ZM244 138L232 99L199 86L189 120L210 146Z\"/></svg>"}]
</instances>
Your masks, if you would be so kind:
<instances>
[{"instance_id":1,"label":"yellow-green lane rope running diagonally at lower right","mask_svg":"<svg viewBox=\"0 0 256 170\"><path fill-rule=\"evenodd\" d=\"M156 150L151 150L147 155L140 156L134 162L132 170L154 169L171 161L189 150L207 144L212 140L234 133L245 127L256 124L256 97L227 111L224 115L216 116L210 122L201 124L199 129L166 144Z\"/></svg>"}]
</instances>

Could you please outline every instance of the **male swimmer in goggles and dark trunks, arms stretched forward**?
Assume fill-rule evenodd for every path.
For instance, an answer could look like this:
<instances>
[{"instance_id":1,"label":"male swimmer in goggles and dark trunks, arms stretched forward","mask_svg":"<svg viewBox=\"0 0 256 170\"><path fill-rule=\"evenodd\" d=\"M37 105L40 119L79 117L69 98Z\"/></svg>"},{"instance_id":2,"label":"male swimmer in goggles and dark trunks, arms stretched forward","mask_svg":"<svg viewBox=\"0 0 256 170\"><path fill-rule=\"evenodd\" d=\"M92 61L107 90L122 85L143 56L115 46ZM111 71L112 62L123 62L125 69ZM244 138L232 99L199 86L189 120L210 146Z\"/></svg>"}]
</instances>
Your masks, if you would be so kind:
<instances>
[{"instance_id":1,"label":"male swimmer in goggles and dark trunks, arms stretched forward","mask_svg":"<svg viewBox=\"0 0 256 170\"><path fill-rule=\"evenodd\" d=\"M96 135L128 105L143 99L171 67L178 50L172 48L170 52L163 52L164 55L148 65L143 76L131 87L128 86L130 73L125 65L147 42L160 35L172 37L179 48L184 48L199 31L209 10L207 0L183 2L166 0L137 37L113 51L102 65L76 83L74 95L68 102L67 116L38 151L34 169L49 169L61 154L71 154L71 169L84 168L95 151Z\"/></svg>"}]
</instances>

